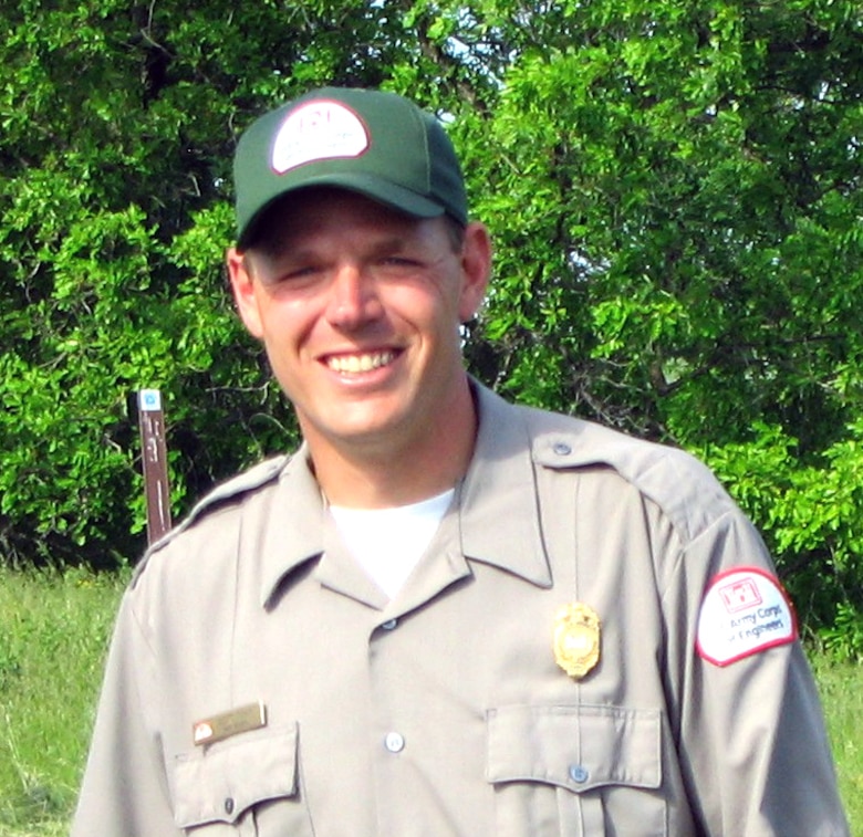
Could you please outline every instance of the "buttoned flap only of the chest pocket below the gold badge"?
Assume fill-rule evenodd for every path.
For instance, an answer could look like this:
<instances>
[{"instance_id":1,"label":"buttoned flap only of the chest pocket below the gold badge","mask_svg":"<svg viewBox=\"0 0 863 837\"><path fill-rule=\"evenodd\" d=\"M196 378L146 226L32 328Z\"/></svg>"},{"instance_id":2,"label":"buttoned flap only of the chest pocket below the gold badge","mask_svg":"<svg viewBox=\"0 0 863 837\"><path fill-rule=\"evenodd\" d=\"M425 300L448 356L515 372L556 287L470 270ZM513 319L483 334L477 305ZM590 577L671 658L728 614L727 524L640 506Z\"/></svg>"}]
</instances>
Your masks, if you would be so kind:
<instances>
[{"instance_id":1,"label":"buttoned flap only of the chest pocket below the gold badge","mask_svg":"<svg viewBox=\"0 0 863 837\"><path fill-rule=\"evenodd\" d=\"M487 724L492 783L544 782L582 793L662 782L658 711L513 705L489 710Z\"/></svg>"}]
</instances>

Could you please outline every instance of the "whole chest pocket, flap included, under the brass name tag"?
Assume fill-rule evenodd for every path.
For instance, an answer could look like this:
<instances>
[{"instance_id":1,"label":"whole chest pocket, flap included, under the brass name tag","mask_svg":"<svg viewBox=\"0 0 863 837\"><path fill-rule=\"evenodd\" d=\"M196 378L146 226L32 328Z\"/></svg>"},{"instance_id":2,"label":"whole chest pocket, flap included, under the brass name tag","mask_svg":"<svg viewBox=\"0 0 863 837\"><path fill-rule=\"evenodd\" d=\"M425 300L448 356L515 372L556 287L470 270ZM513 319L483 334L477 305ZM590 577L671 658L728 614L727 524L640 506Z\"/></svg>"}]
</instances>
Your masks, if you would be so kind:
<instances>
[{"instance_id":1,"label":"whole chest pocket, flap included, under the brass name tag","mask_svg":"<svg viewBox=\"0 0 863 837\"><path fill-rule=\"evenodd\" d=\"M187 834L312 834L300 794L295 726L245 733L180 754L171 778L174 820Z\"/></svg>"}]
</instances>

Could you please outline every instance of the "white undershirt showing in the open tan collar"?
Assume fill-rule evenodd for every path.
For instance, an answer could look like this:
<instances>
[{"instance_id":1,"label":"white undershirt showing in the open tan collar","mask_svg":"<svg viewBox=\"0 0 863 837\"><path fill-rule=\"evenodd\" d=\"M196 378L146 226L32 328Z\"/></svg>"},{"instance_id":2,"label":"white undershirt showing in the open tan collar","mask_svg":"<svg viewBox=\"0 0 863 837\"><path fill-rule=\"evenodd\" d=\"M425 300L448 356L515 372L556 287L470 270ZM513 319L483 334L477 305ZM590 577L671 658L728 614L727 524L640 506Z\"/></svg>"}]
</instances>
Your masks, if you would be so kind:
<instances>
[{"instance_id":1,"label":"white undershirt showing in the open tan collar","mask_svg":"<svg viewBox=\"0 0 863 837\"><path fill-rule=\"evenodd\" d=\"M455 490L396 509L345 509L330 513L352 555L389 598L407 580L444 519Z\"/></svg>"}]
</instances>

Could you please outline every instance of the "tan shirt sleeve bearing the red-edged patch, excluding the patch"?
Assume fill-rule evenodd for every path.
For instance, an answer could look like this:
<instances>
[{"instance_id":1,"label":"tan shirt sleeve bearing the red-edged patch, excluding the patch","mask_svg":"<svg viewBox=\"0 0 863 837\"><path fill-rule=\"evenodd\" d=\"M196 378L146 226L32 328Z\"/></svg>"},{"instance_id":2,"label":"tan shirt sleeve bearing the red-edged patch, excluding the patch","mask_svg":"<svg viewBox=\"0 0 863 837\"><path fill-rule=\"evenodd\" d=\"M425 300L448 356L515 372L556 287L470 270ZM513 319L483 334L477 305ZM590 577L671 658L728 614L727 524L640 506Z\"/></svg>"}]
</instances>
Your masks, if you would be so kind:
<instances>
[{"instance_id":1,"label":"tan shirt sleeve bearing the red-edged patch, excluding the patch","mask_svg":"<svg viewBox=\"0 0 863 837\"><path fill-rule=\"evenodd\" d=\"M721 665L696 650L706 590L741 567L776 577L760 536L735 510L688 544L665 595L673 718L694 810L706 835L846 837L818 691L796 634Z\"/></svg>"}]
</instances>

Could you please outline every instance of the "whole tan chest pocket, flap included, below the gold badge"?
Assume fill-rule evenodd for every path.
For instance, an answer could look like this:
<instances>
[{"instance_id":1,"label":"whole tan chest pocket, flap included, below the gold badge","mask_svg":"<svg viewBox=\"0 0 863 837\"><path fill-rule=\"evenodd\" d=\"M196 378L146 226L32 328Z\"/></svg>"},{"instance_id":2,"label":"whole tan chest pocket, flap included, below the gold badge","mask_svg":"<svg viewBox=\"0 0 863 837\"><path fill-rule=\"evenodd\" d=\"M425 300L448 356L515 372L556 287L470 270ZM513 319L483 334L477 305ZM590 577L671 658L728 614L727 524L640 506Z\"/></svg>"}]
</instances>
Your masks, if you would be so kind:
<instances>
[{"instance_id":1,"label":"whole tan chest pocket, flap included, below the gold badge","mask_svg":"<svg viewBox=\"0 0 863 837\"><path fill-rule=\"evenodd\" d=\"M487 713L498 837L664 837L662 716L618 707Z\"/></svg>"}]
</instances>

